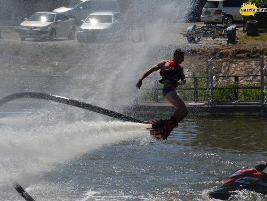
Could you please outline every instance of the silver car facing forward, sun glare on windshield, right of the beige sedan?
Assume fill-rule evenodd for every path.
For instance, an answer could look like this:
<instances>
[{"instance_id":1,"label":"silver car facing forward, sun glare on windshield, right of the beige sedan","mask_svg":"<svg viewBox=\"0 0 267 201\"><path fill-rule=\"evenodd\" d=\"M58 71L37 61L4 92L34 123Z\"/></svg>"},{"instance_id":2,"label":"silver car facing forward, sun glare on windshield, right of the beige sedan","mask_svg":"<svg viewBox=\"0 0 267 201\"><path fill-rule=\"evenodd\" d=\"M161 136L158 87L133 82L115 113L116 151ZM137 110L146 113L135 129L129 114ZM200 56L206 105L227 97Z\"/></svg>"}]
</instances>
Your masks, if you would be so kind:
<instances>
[{"instance_id":1,"label":"silver car facing forward, sun glare on windshield, right of the beige sedan","mask_svg":"<svg viewBox=\"0 0 267 201\"><path fill-rule=\"evenodd\" d=\"M78 42L97 39L125 40L126 32L119 12L91 13L78 31Z\"/></svg>"}]
</instances>

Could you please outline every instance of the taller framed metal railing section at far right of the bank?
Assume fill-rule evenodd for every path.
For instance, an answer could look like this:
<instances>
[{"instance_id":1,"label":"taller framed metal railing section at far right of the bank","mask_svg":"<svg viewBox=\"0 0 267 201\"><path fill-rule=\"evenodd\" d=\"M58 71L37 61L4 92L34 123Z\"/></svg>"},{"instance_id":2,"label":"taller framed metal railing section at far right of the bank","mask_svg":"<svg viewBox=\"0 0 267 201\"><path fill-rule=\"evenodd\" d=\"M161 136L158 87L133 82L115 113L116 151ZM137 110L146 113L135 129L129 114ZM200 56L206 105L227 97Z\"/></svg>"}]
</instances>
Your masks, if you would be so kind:
<instances>
[{"instance_id":1,"label":"taller framed metal railing section at far right of the bank","mask_svg":"<svg viewBox=\"0 0 267 201\"><path fill-rule=\"evenodd\" d=\"M267 103L265 92L267 73L264 59L243 61L212 61L210 59L207 61L207 104L218 105L224 101L224 103L234 104L237 102L248 102L265 105ZM228 75L226 71L219 74L216 73L219 64L226 63L226 65L230 66L231 64L239 63L240 66L241 62L251 65L250 70L243 72L243 75ZM256 78L260 80L256 80ZM215 90L222 90L222 94L224 96L226 94L228 101L220 100L223 95L216 94ZM242 94L243 99L240 97L240 94Z\"/></svg>"}]
</instances>

